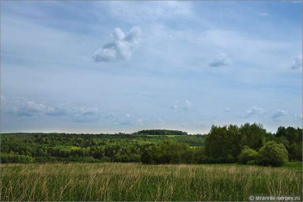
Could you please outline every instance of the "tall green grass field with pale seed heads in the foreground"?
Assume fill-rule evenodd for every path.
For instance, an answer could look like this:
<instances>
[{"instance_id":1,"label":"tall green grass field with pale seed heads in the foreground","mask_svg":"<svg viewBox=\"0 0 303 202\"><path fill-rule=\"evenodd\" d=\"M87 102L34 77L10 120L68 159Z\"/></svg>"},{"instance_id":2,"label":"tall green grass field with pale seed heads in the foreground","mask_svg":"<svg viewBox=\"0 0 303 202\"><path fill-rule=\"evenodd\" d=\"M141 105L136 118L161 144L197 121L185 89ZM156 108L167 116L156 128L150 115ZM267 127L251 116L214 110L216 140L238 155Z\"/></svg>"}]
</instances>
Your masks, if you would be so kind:
<instances>
[{"instance_id":1,"label":"tall green grass field with pale seed heads in the foreground","mask_svg":"<svg viewBox=\"0 0 303 202\"><path fill-rule=\"evenodd\" d=\"M302 162L281 168L236 164L1 165L1 201L249 201L251 195L302 197Z\"/></svg>"}]
</instances>

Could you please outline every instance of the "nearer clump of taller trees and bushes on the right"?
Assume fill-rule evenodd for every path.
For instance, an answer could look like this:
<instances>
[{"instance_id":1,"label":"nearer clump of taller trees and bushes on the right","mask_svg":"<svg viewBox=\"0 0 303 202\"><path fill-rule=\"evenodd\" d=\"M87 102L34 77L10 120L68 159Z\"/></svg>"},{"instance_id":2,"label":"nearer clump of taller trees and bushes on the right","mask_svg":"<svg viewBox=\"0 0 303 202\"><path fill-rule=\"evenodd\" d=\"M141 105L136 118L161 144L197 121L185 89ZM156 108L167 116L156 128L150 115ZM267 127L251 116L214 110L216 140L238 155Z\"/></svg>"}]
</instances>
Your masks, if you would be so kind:
<instances>
[{"instance_id":1,"label":"nearer clump of taller trees and bushes on the right","mask_svg":"<svg viewBox=\"0 0 303 202\"><path fill-rule=\"evenodd\" d=\"M165 141L149 146L141 155L145 164L238 162L280 166L288 160L302 161L302 129L279 127L271 134L262 125L249 123L212 126L203 147Z\"/></svg>"}]
</instances>

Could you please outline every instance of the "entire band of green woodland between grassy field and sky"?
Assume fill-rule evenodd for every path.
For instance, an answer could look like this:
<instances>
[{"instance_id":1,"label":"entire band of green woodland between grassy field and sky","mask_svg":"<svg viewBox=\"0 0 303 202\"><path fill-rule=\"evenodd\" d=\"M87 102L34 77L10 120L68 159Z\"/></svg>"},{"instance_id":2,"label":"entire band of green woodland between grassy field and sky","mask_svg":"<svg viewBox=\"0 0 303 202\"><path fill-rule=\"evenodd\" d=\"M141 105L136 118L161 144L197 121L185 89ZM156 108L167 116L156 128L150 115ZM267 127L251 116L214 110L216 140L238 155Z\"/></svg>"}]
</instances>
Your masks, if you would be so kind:
<instances>
[{"instance_id":1,"label":"entire band of green woodland between grassy field and sky","mask_svg":"<svg viewBox=\"0 0 303 202\"><path fill-rule=\"evenodd\" d=\"M212 126L207 135L144 130L133 134L1 134L1 162L241 163L302 161L302 129L260 124Z\"/></svg>"}]
</instances>

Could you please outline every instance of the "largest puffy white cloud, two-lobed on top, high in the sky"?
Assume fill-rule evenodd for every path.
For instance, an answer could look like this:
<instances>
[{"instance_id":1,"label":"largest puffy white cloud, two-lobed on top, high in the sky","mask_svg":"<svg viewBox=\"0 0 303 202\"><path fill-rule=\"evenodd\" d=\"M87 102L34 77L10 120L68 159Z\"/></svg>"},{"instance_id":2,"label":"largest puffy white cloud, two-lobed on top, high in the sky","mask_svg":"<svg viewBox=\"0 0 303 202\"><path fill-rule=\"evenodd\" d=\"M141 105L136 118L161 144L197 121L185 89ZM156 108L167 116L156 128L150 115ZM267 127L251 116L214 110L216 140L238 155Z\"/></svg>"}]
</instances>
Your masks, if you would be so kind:
<instances>
[{"instance_id":1,"label":"largest puffy white cloud, two-lobed on top, high in the sky","mask_svg":"<svg viewBox=\"0 0 303 202\"><path fill-rule=\"evenodd\" d=\"M135 47L140 43L141 33L140 27L133 27L126 34L120 28L115 28L110 42L93 54L93 60L96 63L130 60Z\"/></svg>"}]
</instances>

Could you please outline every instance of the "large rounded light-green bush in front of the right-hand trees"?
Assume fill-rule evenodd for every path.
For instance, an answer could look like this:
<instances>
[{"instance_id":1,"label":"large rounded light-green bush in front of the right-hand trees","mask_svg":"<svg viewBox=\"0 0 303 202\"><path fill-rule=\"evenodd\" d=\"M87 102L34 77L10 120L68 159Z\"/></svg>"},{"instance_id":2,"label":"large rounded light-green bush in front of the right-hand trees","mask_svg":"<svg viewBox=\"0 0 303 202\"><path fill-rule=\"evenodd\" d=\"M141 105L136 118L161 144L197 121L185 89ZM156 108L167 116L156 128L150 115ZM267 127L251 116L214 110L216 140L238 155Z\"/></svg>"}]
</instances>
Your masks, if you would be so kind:
<instances>
[{"instance_id":1,"label":"large rounded light-green bush in front of the right-hand trees","mask_svg":"<svg viewBox=\"0 0 303 202\"><path fill-rule=\"evenodd\" d=\"M265 166L281 166L288 161L288 152L283 144L269 141L258 151L259 164Z\"/></svg>"}]
</instances>

